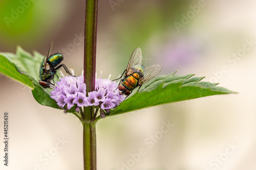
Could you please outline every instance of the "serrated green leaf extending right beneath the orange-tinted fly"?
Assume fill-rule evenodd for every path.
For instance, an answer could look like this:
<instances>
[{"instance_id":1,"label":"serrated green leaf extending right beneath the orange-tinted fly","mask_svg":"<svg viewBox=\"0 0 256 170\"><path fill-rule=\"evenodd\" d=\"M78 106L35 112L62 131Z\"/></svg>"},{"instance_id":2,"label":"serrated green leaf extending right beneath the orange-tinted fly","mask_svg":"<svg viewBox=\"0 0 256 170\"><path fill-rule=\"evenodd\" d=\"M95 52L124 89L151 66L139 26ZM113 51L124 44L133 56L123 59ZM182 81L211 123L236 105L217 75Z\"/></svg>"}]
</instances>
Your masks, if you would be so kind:
<instances>
[{"instance_id":1,"label":"serrated green leaf extending right beneath the orange-tinted fly","mask_svg":"<svg viewBox=\"0 0 256 170\"><path fill-rule=\"evenodd\" d=\"M147 107L201 98L203 96L236 93L223 87L217 87L218 83L200 82L204 77L174 74L156 78L152 83L140 90L140 92L136 92L117 108L112 109L109 115L117 115Z\"/></svg>"}]
</instances>

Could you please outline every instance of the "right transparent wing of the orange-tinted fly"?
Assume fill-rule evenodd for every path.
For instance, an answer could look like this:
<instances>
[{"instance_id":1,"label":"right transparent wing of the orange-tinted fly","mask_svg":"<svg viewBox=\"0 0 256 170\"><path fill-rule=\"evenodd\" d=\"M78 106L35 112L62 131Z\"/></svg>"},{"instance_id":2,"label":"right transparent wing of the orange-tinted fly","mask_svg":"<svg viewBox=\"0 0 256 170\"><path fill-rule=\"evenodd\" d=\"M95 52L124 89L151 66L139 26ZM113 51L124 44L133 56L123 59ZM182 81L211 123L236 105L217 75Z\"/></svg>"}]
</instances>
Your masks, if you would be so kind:
<instances>
[{"instance_id":1,"label":"right transparent wing of the orange-tinted fly","mask_svg":"<svg viewBox=\"0 0 256 170\"><path fill-rule=\"evenodd\" d=\"M162 66L159 64L152 65L145 68L145 75L139 80L138 86L146 83L148 80L155 77L161 71Z\"/></svg>"}]
</instances>

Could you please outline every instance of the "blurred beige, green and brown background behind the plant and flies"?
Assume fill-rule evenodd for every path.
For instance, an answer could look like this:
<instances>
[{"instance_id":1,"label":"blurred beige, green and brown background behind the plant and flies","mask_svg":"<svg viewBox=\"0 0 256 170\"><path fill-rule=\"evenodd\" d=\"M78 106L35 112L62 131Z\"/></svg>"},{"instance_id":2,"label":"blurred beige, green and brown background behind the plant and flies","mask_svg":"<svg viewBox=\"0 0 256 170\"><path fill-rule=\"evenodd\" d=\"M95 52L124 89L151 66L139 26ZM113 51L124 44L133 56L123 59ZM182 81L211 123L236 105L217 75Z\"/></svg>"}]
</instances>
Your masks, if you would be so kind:
<instances>
[{"instance_id":1,"label":"blurred beige, green and brown background behind the plant and flies","mask_svg":"<svg viewBox=\"0 0 256 170\"><path fill-rule=\"evenodd\" d=\"M65 55L63 63L80 75L84 4L0 1L0 52L15 53L20 45L47 55L54 41L52 53ZM255 7L252 0L99 0L98 75L102 70L103 78L117 78L141 47L144 65L163 65L159 75L177 70L205 76L239 93L99 121L98 169L256 169ZM29 88L3 75L0 87L0 136L6 111L10 135L9 166L1 161L1 169L83 168L82 126L75 116L41 106ZM174 126L162 133L163 122ZM0 147L3 156L3 142Z\"/></svg>"}]
</instances>

